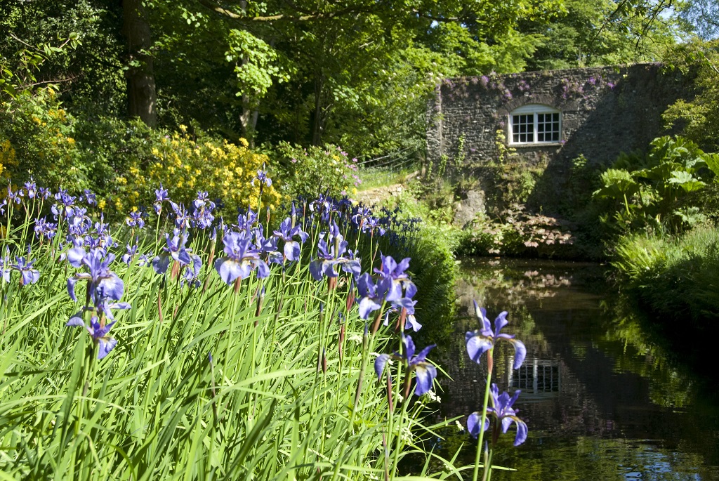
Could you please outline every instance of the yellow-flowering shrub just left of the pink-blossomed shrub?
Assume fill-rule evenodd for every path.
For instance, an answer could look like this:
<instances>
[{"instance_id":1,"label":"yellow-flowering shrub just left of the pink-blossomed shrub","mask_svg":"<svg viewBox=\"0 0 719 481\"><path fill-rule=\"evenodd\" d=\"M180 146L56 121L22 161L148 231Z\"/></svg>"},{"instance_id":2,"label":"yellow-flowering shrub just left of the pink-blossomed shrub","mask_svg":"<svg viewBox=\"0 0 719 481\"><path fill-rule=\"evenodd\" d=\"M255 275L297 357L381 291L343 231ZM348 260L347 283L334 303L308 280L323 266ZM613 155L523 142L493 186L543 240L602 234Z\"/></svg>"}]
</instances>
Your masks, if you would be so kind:
<instances>
[{"instance_id":1,"label":"yellow-flowering shrub just left of the pink-blossomed shrub","mask_svg":"<svg viewBox=\"0 0 719 481\"><path fill-rule=\"evenodd\" d=\"M196 141L175 132L160 135L154 144L149 157L129 165L127 172L118 173L114 179L117 196L127 203L126 209L138 203L149 206L160 184L173 201L186 206L198 191L206 191L209 198L224 203L227 214L234 214L237 207L257 209L260 185L255 182L253 186L252 179L263 165L272 177L269 157L249 150L244 139L238 145L226 140ZM263 187L263 209L276 209L282 201L275 184Z\"/></svg>"}]
</instances>

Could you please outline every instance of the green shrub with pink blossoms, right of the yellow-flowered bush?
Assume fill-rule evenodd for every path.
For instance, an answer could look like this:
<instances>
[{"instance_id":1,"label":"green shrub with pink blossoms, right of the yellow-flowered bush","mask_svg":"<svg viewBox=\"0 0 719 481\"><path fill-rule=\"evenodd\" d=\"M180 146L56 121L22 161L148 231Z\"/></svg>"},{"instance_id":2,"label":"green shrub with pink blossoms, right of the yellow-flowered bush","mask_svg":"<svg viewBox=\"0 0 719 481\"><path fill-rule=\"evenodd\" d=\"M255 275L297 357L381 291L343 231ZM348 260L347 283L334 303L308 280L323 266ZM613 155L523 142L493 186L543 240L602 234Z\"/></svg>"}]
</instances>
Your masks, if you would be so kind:
<instances>
[{"instance_id":1,"label":"green shrub with pink blossoms, right of the yellow-flowered bush","mask_svg":"<svg viewBox=\"0 0 719 481\"><path fill-rule=\"evenodd\" d=\"M278 158L283 192L289 196L313 196L318 192L342 197L357 193L362 183L357 158L336 145L303 148L281 142L271 154Z\"/></svg>"}]
</instances>

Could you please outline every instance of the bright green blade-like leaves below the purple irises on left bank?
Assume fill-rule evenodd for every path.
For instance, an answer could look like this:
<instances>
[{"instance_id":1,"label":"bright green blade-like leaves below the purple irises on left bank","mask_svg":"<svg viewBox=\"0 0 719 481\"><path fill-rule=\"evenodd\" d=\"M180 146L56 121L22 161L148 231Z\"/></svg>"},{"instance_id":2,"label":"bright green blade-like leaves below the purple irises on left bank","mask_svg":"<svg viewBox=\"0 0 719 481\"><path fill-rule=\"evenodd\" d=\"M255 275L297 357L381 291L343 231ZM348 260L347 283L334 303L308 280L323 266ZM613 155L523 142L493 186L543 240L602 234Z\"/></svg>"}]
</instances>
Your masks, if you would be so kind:
<instances>
[{"instance_id":1,"label":"bright green blade-like leaves below the purple irises on left bank","mask_svg":"<svg viewBox=\"0 0 719 481\"><path fill-rule=\"evenodd\" d=\"M27 254L29 221L7 222L2 252ZM308 229L313 240L306 249L320 229ZM19 285L17 272L0 283L0 479L428 476L428 464L416 465L415 477L403 476L398 465L408 453L432 456L421 438L436 426L423 425L423 403L400 401L401 362L393 365L388 402L373 353L400 349L398 336L389 328L365 330L347 302L347 275L336 288L317 283L305 252L303 261L273 267L268 278L226 285L212 265L222 244L191 233L203 260L199 288L170 270L157 275L139 267L137 258L129 267L111 265L131 308L116 311L110 334L118 344L101 360L87 331L65 327L80 304L65 288L76 270L59 259L64 232L52 243L32 243L37 283ZM116 232L119 249L129 234ZM352 247L376 252L376 241L345 234ZM159 252L154 239L150 234L139 252ZM389 248L384 244L383 252ZM363 267L370 270L369 257ZM461 479L454 468L433 477L450 476Z\"/></svg>"}]
</instances>

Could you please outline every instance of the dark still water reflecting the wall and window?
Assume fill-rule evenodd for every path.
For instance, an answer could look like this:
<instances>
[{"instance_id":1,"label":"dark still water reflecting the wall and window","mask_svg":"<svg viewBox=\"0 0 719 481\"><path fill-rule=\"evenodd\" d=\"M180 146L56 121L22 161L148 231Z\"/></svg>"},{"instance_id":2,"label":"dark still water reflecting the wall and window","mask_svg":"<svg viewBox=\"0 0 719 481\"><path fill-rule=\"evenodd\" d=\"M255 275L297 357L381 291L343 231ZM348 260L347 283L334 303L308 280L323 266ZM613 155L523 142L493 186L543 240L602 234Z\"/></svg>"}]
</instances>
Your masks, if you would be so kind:
<instances>
[{"instance_id":1,"label":"dark still water reflecting the wall and window","mask_svg":"<svg viewBox=\"0 0 719 481\"><path fill-rule=\"evenodd\" d=\"M486 357L477 365L464 349L464 332L478 327L473 299L492 322L509 311L503 332L527 347L519 370L510 368L509 343L495 349L495 382L500 391L522 390L514 407L529 436L518 447L514 426L500 436L493 464L517 471L495 471L493 480L719 480L719 389L617 307L602 267L464 260L457 294L456 332L435 354L452 378L441 380L438 417L464 416L465 424L481 410ZM716 340L699 344L719 352ZM474 462L469 435L442 436L441 454L464 444L456 465Z\"/></svg>"}]
</instances>

